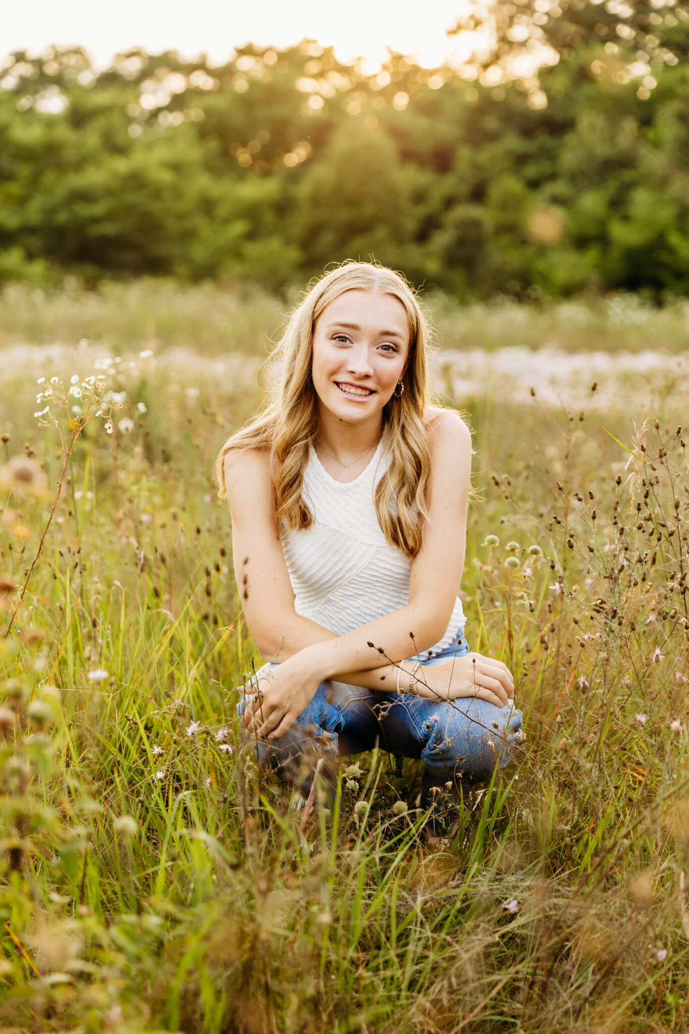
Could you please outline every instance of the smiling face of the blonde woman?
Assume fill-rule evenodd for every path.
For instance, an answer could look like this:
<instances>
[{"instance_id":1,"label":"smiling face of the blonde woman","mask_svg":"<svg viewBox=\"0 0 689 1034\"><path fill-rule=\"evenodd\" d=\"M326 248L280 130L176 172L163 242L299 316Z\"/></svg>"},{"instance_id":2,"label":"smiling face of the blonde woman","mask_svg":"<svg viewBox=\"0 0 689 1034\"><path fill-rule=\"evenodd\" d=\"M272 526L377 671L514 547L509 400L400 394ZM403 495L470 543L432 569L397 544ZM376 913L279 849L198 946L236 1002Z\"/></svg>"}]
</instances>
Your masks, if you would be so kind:
<instances>
[{"instance_id":1,"label":"smiling face of the blonde woman","mask_svg":"<svg viewBox=\"0 0 689 1034\"><path fill-rule=\"evenodd\" d=\"M409 358L409 325L394 295L353 288L331 302L313 333L311 375L322 408L348 424L380 418Z\"/></svg>"}]
</instances>

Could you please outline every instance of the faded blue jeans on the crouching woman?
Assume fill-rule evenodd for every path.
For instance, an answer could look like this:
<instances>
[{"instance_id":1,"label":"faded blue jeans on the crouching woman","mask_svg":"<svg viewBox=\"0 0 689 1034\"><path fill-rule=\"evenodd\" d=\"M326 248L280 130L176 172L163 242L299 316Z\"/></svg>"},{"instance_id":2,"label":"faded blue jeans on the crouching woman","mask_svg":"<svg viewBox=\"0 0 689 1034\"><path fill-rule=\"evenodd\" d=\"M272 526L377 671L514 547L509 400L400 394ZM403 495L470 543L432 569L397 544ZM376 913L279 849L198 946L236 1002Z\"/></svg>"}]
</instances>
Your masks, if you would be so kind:
<instances>
[{"instance_id":1,"label":"faded blue jeans on the crouching woman","mask_svg":"<svg viewBox=\"0 0 689 1034\"><path fill-rule=\"evenodd\" d=\"M469 652L460 629L453 642L434 653L414 655L424 667L442 664ZM268 664L260 677L276 665ZM244 713L241 699L237 713ZM523 738L522 712L512 704L473 697L436 702L410 694L381 693L346 682L321 682L296 721L279 739L255 740L258 760L288 782L311 771L318 758L333 765L340 755L358 754L377 744L393 754L421 758L425 765L422 802L430 788L458 779L475 783L502 768Z\"/></svg>"}]
</instances>

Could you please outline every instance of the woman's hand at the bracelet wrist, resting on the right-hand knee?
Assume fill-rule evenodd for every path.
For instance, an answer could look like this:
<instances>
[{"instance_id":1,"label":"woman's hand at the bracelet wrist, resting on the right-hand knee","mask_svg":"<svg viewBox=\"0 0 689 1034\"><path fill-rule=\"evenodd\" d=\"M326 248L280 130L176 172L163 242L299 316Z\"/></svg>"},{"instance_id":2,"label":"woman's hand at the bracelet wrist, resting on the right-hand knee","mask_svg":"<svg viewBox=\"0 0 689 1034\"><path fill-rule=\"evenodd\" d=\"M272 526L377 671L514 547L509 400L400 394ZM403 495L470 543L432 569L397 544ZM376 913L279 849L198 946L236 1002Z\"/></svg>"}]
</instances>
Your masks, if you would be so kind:
<instances>
[{"instance_id":1,"label":"woman's hand at the bracelet wrist, resting on the right-hand knee","mask_svg":"<svg viewBox=\"0 0 689 1034\"><path fill-rule=\"evenodd\" d=\"M497 707L514 699L514 679L506 664L482 653L467 653L418 671L414 692L431 700L479 697Z\"/></svg>"}]
</instances>

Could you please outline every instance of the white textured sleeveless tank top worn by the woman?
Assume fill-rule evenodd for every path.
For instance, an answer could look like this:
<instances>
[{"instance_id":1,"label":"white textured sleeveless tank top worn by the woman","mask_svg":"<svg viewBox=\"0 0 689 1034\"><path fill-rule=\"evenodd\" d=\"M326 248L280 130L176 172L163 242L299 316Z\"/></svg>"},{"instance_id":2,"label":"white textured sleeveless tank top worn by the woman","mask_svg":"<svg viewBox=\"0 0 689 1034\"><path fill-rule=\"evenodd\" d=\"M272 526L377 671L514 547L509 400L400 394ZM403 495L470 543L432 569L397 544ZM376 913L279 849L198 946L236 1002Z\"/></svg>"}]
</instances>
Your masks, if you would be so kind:
<instances>
[{"instance_id":1,"label":"white textured sleeveless tank top worn by the woman","mask_svg":"<svg viewBox=\"0 0 689 1034\"><path fill-rule=\"evenodd\" d=\"M387 463L381 440L366 469L342 484L324 469L309 445L302 494L314 520L308 528L281 536L296 613L339 636L409 603L411 560L387 543L374 505L375 488ZM463 626L458 599L433 652L449 646Z\"/></svg>"}]
</instances>

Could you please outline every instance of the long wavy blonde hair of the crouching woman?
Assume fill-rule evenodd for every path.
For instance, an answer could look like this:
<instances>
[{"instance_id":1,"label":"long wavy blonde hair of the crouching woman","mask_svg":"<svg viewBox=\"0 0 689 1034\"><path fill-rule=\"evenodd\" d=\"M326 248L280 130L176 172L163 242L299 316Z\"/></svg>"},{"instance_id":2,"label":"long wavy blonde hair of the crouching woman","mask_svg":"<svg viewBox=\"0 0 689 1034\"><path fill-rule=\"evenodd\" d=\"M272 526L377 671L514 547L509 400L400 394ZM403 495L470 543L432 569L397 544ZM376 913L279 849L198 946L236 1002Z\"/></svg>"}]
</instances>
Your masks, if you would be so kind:
<instances>
[{"instance_id":1,"label":"long wavy blonde hair of the crouching woman","mask_svg":"<svg viewBox=\"0 0 689 1034\"><path fill-rule=\"evenodd\" d=\"M390 454L386 475L376 488L378 523L387 542L413 558L421 546L431 475L427 423L431 401L430 326L406 280L371 263L348 262L322 276L292 312L269 360L273 373L257 416L225 442L215 475L218 494L225 494L225 456L232 449L264 449L271 456L275 510L285 530L309 527L313 515L302 498L309 443L318 426L318 398L311 377L313 331L323 309L345 291L382 292L403 305L409 322L409 357L404 391L383 409L383 439ZM392 500L396 505L390 507Z\"/></svg>"}]
</instances>

